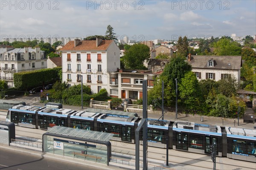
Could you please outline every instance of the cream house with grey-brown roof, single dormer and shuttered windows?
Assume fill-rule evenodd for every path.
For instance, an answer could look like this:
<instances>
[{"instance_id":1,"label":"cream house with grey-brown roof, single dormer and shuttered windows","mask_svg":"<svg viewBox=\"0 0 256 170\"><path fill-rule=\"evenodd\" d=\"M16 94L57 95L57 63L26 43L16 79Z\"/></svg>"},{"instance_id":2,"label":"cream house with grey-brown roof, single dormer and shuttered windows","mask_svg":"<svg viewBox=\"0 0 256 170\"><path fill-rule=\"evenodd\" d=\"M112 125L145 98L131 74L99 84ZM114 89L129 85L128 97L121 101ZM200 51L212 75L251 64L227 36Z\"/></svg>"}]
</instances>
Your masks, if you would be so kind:
<instances>
[{"instance_id":1,"label":"cream house with grey-brown roof, single dormer and shuttered windows","mask_svg":"<svg viewBox=\"0 0 256 170\"><path fill-rule=\"evenodd\" d=\"M213 79L218 81L233 76L240 83L241 56L192 56L189 54L187 62L192 65L192 71L198 80Z\"/></svg>"}]
</instances>

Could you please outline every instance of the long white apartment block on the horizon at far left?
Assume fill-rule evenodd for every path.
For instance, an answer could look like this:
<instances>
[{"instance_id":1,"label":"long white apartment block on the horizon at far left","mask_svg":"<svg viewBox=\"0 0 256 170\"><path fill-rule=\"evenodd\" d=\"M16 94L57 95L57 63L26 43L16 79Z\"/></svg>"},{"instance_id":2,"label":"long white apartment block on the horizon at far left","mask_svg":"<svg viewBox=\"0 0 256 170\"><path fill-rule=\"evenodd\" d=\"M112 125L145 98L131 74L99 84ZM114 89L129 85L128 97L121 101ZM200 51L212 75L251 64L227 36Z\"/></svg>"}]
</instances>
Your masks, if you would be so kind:
<instances>
[{"instance_id":1,"label":"long white apartment block on the horizon at far left","mask_svg":"<svg viewBox=\"0 0 256 170\"><path fill-rule=\"evenodd\" d=\"M26 38L26 37L23 37L23 38L3 38L2 41L7 41L7 42L12 43L12 42L15 42L15 41L26 42L26 41L38 40L38 42L44 41L45 43L48 42L51 45L54 44L57 41L61 41L63 43L63 45L66 45L68 42L74 41L76 39L83 40L81 37L80 38L42 38L42 37Z\"/></svg>"}]
</instances>

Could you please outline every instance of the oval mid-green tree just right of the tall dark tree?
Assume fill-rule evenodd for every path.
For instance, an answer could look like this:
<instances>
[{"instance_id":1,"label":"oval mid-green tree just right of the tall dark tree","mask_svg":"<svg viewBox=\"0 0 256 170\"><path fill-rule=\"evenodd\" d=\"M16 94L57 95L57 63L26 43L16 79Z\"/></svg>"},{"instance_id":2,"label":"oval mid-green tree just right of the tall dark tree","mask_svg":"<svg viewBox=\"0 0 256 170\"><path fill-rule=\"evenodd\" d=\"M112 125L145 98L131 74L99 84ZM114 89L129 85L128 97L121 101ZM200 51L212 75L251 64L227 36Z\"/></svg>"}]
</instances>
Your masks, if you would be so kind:
<instances>
[{"instance_id":1,"label":"oval mid-green tree just right of the tall dark tree","mask_svg":"<svg viewBox=\"0 0 256 170\"><path fill-rule=\"evenodd\" d=\"M180 91L180 99L183 102L183 106L186 108L186 112L198 112L203 100L198 79L192 71L187 72L184 78L181 78L178 89Z\"/></svg>"}]
</instances>

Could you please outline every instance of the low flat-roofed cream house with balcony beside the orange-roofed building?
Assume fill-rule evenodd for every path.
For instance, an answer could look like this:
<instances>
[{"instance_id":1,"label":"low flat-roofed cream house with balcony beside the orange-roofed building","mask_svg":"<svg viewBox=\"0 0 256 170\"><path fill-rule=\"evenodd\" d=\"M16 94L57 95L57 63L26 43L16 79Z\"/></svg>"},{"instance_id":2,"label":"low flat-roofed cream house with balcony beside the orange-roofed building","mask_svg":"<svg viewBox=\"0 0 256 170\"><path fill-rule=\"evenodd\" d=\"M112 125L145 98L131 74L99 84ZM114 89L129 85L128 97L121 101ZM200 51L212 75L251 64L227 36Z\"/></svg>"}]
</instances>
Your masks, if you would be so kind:
<instances>
[{"instance_id":1,"label":"low flat-roofed cream house with balcony beside the orange-roofed building","mask_svg":"<svg viewBox=\"0 0 256 170\"><path fill-rule=\"evenodd\" d=\"M147 80L148 90L153 88L157 74L144 70L119 70L110 73L110 96L116 98L142 99L142 82Z\"/></svg>"}]
</instances>

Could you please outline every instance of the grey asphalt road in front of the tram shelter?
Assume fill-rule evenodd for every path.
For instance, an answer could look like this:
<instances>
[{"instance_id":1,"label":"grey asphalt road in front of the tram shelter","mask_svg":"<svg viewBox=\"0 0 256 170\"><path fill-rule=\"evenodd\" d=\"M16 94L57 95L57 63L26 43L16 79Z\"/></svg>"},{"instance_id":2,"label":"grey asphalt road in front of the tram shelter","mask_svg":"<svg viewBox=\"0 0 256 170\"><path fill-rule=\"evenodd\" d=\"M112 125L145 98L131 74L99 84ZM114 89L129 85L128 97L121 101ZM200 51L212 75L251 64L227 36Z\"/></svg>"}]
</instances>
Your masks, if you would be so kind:
<instances>
[{"instance_id":1,"label":"grey asphalt road in front of the tram shelter","mask_svg":"<svg viewBox=\"0 0 256 170\"><path fill-rule=\"evenodd\" d=\"M56 161L44 157L45 153L23 153L19 150L10 150L1 147L0 169L1 170L92 170L88 165L79 165ZM95 169L95 168L94 168ZM98 168L99 169L99 168Z\"/></svg>"}]
</instances>

